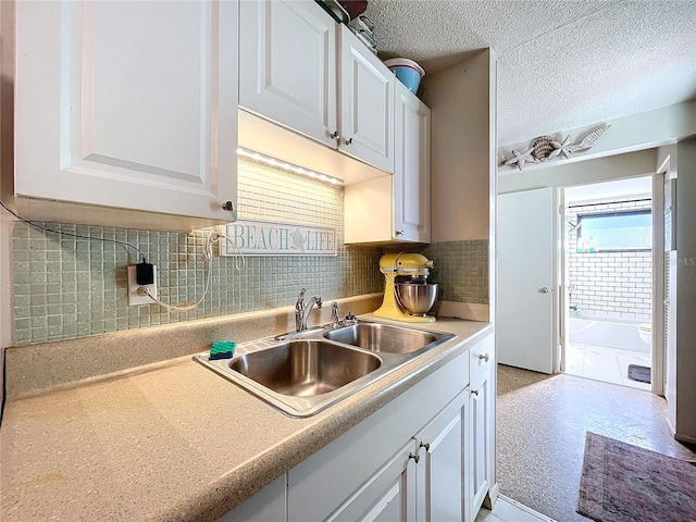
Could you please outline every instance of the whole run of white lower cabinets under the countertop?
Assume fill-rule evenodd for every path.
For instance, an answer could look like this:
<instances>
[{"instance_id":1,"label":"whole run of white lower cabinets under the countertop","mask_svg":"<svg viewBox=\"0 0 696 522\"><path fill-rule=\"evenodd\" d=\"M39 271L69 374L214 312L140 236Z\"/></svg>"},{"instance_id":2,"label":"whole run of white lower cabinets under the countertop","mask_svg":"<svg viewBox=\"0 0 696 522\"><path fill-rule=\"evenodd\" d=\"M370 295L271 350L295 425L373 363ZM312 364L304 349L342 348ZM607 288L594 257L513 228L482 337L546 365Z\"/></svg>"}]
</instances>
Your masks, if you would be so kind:
<instances>
[{"instance_id":1,"label":"whole run of white lower cabinets under the countertop","mask_svg":"<svg viewBox=\"0 0 696 522\"><path fill-rule=\"evenodd\" d=\"M474 520L494 486L492 349L493 335L221 520Z\"/></svg>"}]
</instances>

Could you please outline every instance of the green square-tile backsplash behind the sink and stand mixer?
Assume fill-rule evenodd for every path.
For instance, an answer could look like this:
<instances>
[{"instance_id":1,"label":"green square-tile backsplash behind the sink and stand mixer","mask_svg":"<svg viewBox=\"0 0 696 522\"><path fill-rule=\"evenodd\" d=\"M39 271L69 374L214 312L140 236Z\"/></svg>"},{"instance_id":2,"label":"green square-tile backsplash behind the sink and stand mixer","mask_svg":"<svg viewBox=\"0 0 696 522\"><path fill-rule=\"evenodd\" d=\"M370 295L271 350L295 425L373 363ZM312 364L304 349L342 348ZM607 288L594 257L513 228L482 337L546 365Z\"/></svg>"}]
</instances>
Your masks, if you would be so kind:
<instances>
[{"instance_id":1,"label":"green square-tile backsplash behind the sink and stand mixer","mask_svg":"<svg viewBox=\"0 0 696 522\"><path fill-rule=\"evenodd\" d=\"M343 188L248 160L240 161L238 176L239 219L336 228L338 254L247 257L241 272L235 269L234 258L215 254L210 289L201 304L186 312L169 312L159 304L128 307L126 266L139 261L133 249L36 231L17 222L12 232L14 344L288 307L302 287L325 300L384 289L377 266L385 250L343 243ZM202 250L212 228L181 234L44 225L136 245L157 265L158 297L164 302L197 301L203 294ZM423 253L437 263L434 276L442 284L444 299L487 302L487 241L440 243Z\"/></svg>"}]
</instances>

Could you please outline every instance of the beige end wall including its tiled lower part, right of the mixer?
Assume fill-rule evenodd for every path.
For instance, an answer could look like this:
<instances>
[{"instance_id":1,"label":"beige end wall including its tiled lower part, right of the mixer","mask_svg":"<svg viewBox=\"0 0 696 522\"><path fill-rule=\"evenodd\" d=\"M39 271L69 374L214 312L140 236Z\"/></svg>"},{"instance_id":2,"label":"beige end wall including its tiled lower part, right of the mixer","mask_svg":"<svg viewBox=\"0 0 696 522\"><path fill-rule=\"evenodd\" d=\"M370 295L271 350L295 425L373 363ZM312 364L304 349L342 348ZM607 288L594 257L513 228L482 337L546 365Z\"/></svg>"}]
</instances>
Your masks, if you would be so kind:
<instances>
[{"instance_id":1,"label":"beige end wall including its tiled lower part, right of the mixer","mask_svg":"<svg viewBox=\"0 0 696 522\"><path fill-rule=\"evenodd\" d=\"M442 311L495 316L496 58L485 49L423 78L432 111L432 239ZM459 306L465 303L465 306ZM473 306L472 306L473 304Z\"/></svg>"}]
</instances>

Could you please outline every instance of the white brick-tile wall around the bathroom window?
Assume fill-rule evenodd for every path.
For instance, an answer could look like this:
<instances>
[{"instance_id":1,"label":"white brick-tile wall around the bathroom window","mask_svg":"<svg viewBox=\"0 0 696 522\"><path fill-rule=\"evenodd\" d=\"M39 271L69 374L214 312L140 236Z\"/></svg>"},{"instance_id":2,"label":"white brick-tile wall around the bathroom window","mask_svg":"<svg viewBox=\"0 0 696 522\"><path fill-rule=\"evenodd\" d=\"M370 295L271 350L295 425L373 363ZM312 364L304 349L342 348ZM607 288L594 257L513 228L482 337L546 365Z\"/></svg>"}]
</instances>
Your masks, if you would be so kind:
<instances>
[{"instance_id":1,"label":"white brick-tile wall around the bathroom window","mask_svg":"<svg viewBox=\"0 0 696 522\"><path fill-rule=\"evenodd\" d=\"M571 223L579 214L650 209L649 200L587 203L570 208ZM570 234L570 304L585 315L650 319L652 253L650 251L576 251L577 233Z\"/></svg>"}]
</instances>

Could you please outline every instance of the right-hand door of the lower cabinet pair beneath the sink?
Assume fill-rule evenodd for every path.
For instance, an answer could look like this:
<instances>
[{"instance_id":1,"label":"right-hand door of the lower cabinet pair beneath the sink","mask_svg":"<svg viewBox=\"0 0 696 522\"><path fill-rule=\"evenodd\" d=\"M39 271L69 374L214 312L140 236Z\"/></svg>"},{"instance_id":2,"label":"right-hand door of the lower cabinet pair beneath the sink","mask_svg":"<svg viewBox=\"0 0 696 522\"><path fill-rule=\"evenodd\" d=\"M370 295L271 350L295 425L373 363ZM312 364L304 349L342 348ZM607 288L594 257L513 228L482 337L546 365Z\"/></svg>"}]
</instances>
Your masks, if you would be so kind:
<instances>
[{"instance_id":1,"label":"right-hand door of the lower cabinet pair beneath the sink","mask_svg":"<svg viewBox=\"0 0 696 522\"><path fill-rule=\"evenodd\" d=\"M468 521L467 456L469 389L464 389L418 436L418 520Z\"/></svg>"}]
</instances>

